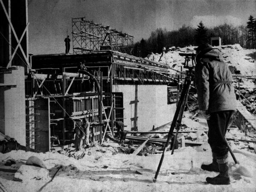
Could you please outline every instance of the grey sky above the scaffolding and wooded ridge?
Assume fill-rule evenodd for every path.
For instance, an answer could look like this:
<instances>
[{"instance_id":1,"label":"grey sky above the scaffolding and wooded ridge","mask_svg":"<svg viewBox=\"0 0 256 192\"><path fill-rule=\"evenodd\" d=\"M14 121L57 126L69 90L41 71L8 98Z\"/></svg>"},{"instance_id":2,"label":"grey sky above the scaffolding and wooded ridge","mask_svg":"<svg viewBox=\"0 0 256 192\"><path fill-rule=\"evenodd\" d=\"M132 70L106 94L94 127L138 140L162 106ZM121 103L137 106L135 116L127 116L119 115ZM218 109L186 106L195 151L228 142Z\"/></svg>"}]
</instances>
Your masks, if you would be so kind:
<instances>
[{"instance_id":1,"label":"grey sky above the scaffolding and wooded ridge","mask_svg":"<svg viewBox=\"0 0 256 192\"><path fill-rule=\"evenodd\" d=\"M157 28L196 28L201 20L206 27L246 25L255 10L256 0L28 0L29 53L64 53L76 17L133 35L135 43Z\"/></svg>"}]
</instances>

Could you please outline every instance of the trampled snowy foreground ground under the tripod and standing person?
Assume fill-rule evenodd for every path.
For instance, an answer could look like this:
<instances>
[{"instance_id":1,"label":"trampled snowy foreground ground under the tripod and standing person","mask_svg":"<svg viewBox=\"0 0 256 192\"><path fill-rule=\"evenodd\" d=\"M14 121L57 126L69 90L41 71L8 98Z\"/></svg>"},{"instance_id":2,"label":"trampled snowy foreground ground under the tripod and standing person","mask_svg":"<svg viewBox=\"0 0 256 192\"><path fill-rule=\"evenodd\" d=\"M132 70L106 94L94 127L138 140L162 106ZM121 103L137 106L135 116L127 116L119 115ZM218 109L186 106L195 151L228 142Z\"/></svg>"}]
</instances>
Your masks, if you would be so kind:
<instances>
[{"instance_id":1,"label":"trampled snowy foreground ground under the tripod and standing person","mask_svg":"<svg viewBox=\"0 0 256 192\"><path fill-rule=\"evenodd\" d=\"M24 173L23 181L14 181L14 173L0 172L0 186L6 191L34 192L38 191L52 175L58 166L62 168L55 175L52 182L42 191L255 191L256 189L256 154L243 149L234 149L234 154L240 164L235 165L229 157L231 184L228 186L214 186L205 183L206 177L214 177L215 172L200 169L202 163L211 163L209 145L198 147L184 147L175 150L171 155L166 152L157 182L153 178L160 161L161 154L135 156L128 154L114 154L115 143L108 143L111 147L93 147L87 149L83 159L76 160L58 153L32 153L25 151L11 151L1 154L0 160L15 159L24 163L30 156L39 157L44 161L49 176L32 178L38 172L33 169ZM101 149L102 152L97 150ZM90 151L90 152L89 152ZM20 164L20 163L17 163ZM17 166L16 164L16 166ZM15 165L13 165L15 166ZM20 166L20 165L18 165ZM142 174L142 175L140 175ZM29 175L33 175L29 177ZM38 180L39 179L39 180ZM3 188L4 186L4 188Z\"/></svg>"}]
</instances>

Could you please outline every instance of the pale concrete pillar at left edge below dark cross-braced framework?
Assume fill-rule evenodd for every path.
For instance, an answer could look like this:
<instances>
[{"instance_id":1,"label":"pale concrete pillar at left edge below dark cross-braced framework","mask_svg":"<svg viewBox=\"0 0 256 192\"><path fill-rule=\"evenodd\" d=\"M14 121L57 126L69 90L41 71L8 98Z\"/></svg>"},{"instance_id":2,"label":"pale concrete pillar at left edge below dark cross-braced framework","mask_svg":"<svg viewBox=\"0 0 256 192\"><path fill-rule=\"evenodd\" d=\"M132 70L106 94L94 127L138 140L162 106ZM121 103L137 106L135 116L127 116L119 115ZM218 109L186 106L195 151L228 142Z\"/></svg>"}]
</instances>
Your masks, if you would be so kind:
<instances>
[{"instance_id":1,"label":"pale concrete pillar at left edge below dark cross-braced framework","mask_svg":"<svg viewBox=\"0 0 256 192\"><path fill-rule=\"evenodd\" d=\"M17 87L0 87L0 131L26 145L24 68L0 74L0 84Z\"/></svg>"}]
</instances>

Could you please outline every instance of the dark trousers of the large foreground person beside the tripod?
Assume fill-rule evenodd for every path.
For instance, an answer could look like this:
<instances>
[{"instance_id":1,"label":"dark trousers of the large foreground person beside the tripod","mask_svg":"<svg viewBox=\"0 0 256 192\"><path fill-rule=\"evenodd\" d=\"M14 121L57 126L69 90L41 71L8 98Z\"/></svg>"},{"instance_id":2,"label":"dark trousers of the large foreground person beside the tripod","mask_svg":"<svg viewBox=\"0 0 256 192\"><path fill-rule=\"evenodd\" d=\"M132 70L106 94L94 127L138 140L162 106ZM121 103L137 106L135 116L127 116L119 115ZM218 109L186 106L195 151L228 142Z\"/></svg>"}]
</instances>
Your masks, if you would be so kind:
<instances>
[{"instance_id":1,"label":"dark trousers of the large foreground person beside the tripod","mask_svg":"<svg viewBox=\"0 0 256 192\"><path fill-rule=\"evenodd\" d=\"M223 157L228 153L225 134L227 126L234 111L218 111L210 113L211 117L207 120L209 127L208 143L216 157Z\"/></svg>"}]
</instances>

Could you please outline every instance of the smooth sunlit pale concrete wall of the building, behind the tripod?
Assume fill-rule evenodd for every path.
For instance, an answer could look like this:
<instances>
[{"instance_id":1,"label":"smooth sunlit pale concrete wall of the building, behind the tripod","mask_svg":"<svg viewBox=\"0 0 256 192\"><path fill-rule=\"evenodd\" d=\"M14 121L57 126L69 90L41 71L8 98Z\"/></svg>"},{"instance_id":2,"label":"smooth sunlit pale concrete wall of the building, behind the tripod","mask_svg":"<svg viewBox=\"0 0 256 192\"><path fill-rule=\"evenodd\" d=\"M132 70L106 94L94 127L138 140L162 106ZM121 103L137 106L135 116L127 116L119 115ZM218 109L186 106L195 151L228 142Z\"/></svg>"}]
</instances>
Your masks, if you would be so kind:
<instances>
[{"instance_id":1,"label":"smooth sunlit pale concrete wall of the building, behind the tripod","mask_svg":"<svg viewBox=\"0 0 256 192\"><path fill-rule=\"evenodd\" d=\"M135 85L114 85L113 92L123 93L125 130L131 130L134 117ZM138 85L138 131L151 130L172 121L176 104L167 105L167 85Z\"/></svg>"}]
</instances>

